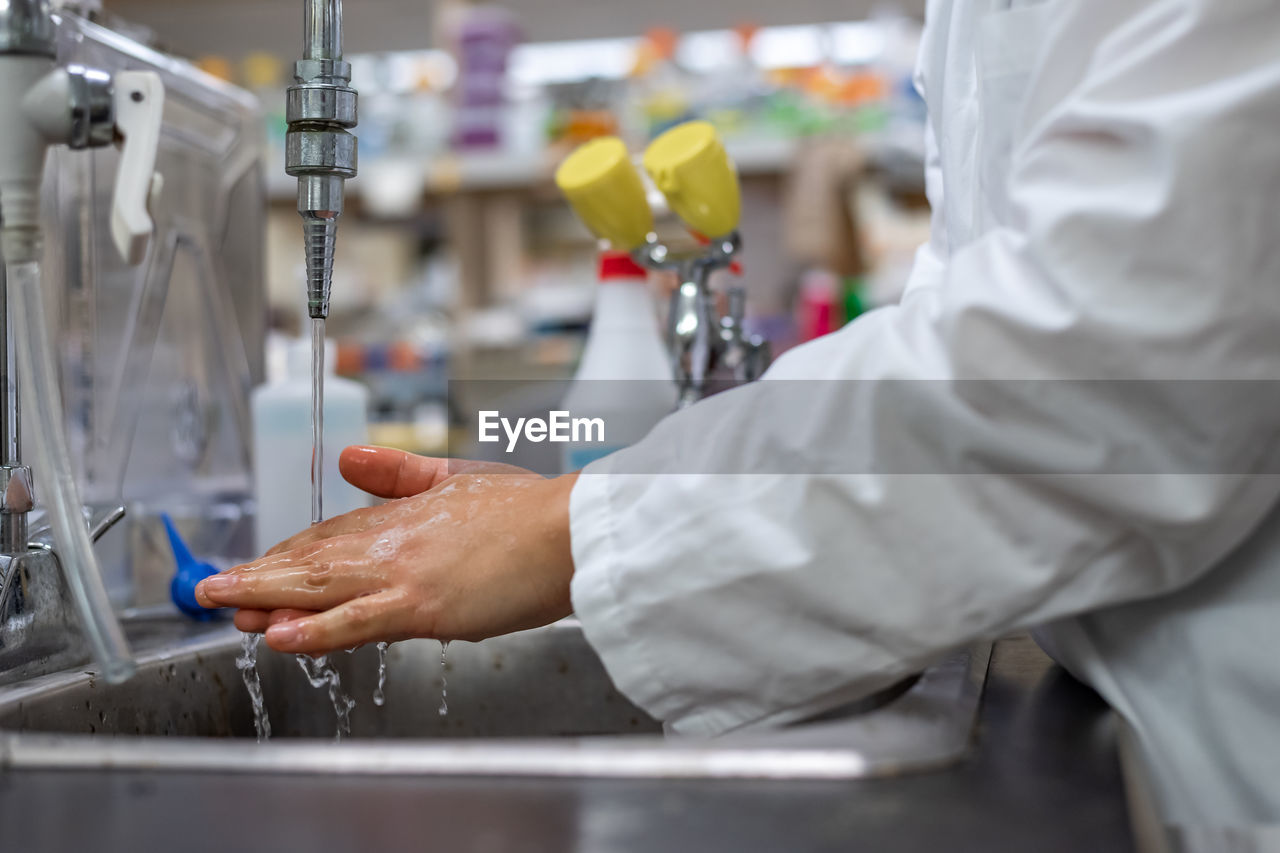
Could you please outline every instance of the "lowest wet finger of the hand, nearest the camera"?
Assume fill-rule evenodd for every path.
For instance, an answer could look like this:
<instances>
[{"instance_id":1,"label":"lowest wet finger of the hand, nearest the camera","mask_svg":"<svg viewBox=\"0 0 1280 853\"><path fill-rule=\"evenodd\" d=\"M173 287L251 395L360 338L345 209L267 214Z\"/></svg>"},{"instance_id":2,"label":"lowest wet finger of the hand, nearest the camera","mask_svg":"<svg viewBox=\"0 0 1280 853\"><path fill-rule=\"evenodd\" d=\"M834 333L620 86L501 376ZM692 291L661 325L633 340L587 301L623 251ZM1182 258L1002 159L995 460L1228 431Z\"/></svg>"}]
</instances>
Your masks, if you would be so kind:
<instances>
[{"instance_id":1,"label":"lowest wet finger of the hand, nearest the camera","mask_svg":"<svg viewBox=\"0 0 1280 853\"><path fill-rule=\"evenodd\" d=\"M404 639L406 597L387 590L303 619L285 620L266 629L266 644L291 654L325 654L365 643Z\"/></svg>"}]
</instances>

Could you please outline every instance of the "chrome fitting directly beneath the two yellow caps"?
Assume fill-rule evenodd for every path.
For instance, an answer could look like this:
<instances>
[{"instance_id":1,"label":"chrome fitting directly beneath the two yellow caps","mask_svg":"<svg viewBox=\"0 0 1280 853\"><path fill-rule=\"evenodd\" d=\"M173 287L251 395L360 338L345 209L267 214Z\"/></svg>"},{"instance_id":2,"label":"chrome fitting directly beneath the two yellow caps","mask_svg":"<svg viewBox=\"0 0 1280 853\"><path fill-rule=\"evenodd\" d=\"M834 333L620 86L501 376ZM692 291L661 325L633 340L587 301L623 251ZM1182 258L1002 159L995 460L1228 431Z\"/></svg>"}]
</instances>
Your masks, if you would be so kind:
<instances>
[{"instance_id":1,"label":"chrome fitting directly beneath the two yellow caps","mask_svg":"<svg viewBox=\"0 0 1280 853\"><path fill-rule=\"evenodd\" d=\"M667 343L680 389L680 409L708 394L717 370L727 370L735 383L745 383L759 379L769 366L768 342L748 336L742 328L746 292L732 288L730 311L718 316L716 295L710 289L712 273L731 266L739 251L741 238L736 231L692 251L673 251L650 236L645 246L635 251L639 264L680 275L680 287L671 295L667 315Z\"/></svg>"}]
</instances>

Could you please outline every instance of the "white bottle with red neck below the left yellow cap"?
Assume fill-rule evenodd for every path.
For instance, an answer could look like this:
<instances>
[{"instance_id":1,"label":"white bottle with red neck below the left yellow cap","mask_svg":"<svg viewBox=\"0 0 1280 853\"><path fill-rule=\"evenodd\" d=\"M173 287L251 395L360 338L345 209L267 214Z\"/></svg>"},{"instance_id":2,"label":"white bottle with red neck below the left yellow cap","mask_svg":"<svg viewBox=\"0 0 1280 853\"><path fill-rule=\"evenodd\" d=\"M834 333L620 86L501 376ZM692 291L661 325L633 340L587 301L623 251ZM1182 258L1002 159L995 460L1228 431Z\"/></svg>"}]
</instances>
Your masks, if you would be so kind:
<instances>
[{"instance_id":1,"label":"white bottle with red neck below the left yellow cap","mask_svg":"<svg viewBox=\"0 0 1280 853\"><path fill-rule=\"evenodd\" d=\"M591 327L564 396L572 420L603 421L562 446L562 469L576 471L634 444L676 407L671 356L658 330L648 274L626 252L603 252Z\"/></svg>"}]
</instances>

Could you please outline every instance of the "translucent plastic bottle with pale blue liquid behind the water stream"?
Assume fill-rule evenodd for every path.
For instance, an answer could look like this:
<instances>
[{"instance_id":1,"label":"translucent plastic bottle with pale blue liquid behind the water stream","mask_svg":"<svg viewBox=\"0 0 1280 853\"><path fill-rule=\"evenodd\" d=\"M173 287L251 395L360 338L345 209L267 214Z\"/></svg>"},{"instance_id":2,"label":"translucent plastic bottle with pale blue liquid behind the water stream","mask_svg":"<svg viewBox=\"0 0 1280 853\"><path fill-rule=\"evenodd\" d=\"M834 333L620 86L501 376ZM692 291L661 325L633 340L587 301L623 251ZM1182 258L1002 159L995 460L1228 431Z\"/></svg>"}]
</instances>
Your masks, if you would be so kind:
<instances>
[{"instance_id":1,"label":"translucent plastic bottle with pale blue liquid behind the water stream","mask_svg":"<svg viewBox=\"0 0 1280 853\"><path fill-rule=\"evenodd\" d=\"M342 479L344 447L369 443L369 391L334 375L332 342L325 347L324 512L333 517L369 506L369 496ZM311 523L311 343L291 342L284 378L252 394L255 525L259 553Z\"/></svg>"}]
</instances>

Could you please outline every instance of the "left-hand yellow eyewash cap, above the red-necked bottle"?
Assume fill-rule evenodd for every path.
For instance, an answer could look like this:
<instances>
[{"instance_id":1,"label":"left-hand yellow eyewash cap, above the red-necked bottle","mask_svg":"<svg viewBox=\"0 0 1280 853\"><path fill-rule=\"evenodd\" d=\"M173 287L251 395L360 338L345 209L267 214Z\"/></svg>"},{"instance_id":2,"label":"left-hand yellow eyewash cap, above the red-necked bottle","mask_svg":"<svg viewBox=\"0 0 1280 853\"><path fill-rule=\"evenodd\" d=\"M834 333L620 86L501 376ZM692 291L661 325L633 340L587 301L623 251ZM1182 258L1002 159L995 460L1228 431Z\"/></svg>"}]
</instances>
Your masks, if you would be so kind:
<instances>
[{"instance_id":1,"label":"left-hand yellow eyewash cap, above the red-necked bottle","mask_svg":"<svg viewBox=\"0 0 1280 853\"><path fill-rule=\"evenodd\" d=\"M556 186L591 233L620 251L644 245L653 211L627 146L616 136L591 140L556 170Z\"/></svg>"}]
</instances>

